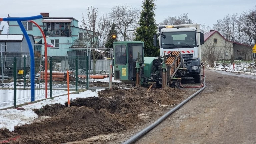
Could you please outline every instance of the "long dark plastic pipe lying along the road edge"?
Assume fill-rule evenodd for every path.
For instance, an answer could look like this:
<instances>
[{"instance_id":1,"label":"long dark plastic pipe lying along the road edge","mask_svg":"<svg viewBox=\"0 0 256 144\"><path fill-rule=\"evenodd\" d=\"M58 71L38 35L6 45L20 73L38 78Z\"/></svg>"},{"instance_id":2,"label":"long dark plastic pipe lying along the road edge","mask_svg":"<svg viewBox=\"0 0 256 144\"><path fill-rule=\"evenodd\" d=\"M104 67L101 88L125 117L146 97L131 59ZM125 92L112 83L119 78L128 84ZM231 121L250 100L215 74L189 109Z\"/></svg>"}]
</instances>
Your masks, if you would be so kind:
<instances>
[{"instance_id":1,"label":"long dark plastic pipe lying along the road edge","mask_svg":"<svg viewBox=\"0 0 256 144\"><path fill-rule=\"evenodd\" d=\"M196 96L198 93L200 93L202 90L204 90L205 86L205 79L206 76L204 76L204 86L198 90L196 93L192 94L191 96L189 96L187 99L185 99L183 102L181 102L180 104L178 104L176 107L174 107L173 109L171 109L170 111L168 111L166 114L164 114L162 117L160 117L158 120L156 120L153 124L151 124L150 126L146 127L145 129L143 129L142 131L140 131L139 133L135 134L134 136L132 136L130 139L128 139L127 141L125 141L123 144L131 144L132 142L136 141L137 139L139 139L141 136L143 136L144 134L146 134L147 132L149 132L150 130L152 130L154 127L156 127L158 124L160 124L163 120L165 120L169 115L171 115L173 112L175 112L177 109L179 109L181 106L183 106L186 102L188 102L190 99L192 99L194 96Z\"/></svg>"}]
</instances>

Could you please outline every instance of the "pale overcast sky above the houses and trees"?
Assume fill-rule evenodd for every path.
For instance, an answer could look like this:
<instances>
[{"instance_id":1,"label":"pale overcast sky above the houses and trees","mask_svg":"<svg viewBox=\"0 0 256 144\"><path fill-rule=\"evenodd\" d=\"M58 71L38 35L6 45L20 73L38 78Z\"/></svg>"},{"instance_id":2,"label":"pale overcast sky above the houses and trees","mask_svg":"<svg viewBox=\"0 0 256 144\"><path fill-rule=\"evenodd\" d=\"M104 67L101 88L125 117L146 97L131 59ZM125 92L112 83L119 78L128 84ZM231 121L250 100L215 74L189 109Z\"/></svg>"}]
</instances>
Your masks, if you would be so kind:
<instances>
[{"instance_id":1,"label":"pale overcast sky above the houses and trees","mask_svg":"<svg viewBox=\"0 0 256 144\"><path fill-rule=\"evenodd\" d=\"M141 10L144 0L6 0L0 2L0 18L7 14L15 17L40 15L40 12L49 12L50 17L73 17L81 22L82 13L86 15L87 7L94 5L99 13L108 13L112 6L127 4ZM218 19L226 15L238 15L244 11L254 9L255 0L156 0L156 23L160 23L168 16L178 17L188 13L188 17L196 23L212 26ZM7 33L7 23L3 34Z\"/></svg>"}]
</instances>

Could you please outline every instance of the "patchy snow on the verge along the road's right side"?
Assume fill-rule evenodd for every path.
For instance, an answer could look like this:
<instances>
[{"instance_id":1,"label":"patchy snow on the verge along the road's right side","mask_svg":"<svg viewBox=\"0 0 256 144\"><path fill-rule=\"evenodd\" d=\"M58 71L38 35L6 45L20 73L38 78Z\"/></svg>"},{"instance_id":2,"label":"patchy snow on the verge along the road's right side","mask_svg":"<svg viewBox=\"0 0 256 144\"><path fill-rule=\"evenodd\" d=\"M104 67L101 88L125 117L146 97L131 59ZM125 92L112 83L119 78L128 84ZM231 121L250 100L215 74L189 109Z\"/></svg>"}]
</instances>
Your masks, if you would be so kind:
<instances>
[{"instance_id":1,"label":"patchy snow on the verge along the road's right side","mask_svg":"<svg viewBox=\"0 0 256 144\"><path fill-rule=\"evenodd\" d=\"M212 69L212 70L233 72L233 73L256 75L256 67L252 67L252 66L253 66L253 63L250 61L235 61L235 69L233 69L233 64L223 64L220 61L217 61L214 63L214 67L210 67L209 65L207 65L206 68Z\"/></svg>"}]
</instances>

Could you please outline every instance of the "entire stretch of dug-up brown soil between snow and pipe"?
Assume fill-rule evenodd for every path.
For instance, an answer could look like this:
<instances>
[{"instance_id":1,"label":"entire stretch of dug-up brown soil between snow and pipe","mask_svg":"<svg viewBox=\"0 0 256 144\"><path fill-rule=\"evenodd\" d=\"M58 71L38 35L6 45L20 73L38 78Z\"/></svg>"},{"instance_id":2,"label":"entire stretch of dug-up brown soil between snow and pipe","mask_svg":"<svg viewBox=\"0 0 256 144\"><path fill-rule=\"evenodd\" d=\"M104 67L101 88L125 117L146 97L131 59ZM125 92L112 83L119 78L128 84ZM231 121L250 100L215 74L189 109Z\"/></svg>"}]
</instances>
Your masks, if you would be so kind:
<instances>
[{"instance_id":1,"label":"entire stretch of dug-up brown soil between snow and pipe","mask_svg":"<svg viewBox=\"0 0 256 144\"><path fill-rule=\"evenodd\" d=\"M0 140L10 144L59 144L78 141L101 134L123 132L144 123L138 114L152 112L160 105L175 105L184 92L164 88L150 90L134 87L98 92L99 97L78 98L70 107L61 104L46 105L35 109L38 116L50 116L32 124L15 126L13 132L0 129Z\"/></svg>"}]
</instances>

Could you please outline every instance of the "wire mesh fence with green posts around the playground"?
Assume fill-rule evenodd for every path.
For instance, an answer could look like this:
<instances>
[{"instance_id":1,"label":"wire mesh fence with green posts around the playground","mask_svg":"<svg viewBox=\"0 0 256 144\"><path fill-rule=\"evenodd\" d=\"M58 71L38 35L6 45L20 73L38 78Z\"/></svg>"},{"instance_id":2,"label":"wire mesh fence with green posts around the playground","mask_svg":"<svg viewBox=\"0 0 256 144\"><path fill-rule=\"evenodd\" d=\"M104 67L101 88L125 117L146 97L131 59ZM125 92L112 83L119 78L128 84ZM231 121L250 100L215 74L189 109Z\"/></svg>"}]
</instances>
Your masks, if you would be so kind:
<instances>
[{"instance_id":1,"label":"wire mesh fence with green posts around the playground","mask_svg":"<svg viewBox=\"0 0 256 144\"><path fill-rule=\"evenodd\" d=\"M35 79L35 100L67 94L67 70L70 93L108 88L109 77L112 77L109 73L111 49L90 49L88 46L74 48L74 45L78 44L59 44L58 48L47 48L47 95L44 45L34 45L34 77L30 75L29 53L1 51L0 109L31 102L31 78Z\"/></svg>"}]
</instances>

